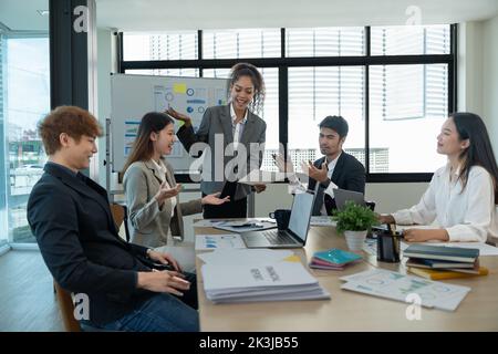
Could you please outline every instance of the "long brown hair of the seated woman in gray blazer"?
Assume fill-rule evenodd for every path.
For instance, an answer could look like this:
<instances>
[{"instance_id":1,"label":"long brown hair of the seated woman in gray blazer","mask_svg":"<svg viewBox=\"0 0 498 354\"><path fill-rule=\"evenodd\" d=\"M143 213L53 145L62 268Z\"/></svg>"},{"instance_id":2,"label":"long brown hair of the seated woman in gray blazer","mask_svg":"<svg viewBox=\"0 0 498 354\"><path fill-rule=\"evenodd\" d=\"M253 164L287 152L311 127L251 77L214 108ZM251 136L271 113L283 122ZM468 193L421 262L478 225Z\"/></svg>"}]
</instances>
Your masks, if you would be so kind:
<instances>
[{"instance_id":1,"label":"long brown hair of the seated woman in gray blazer","mask_svg":"<svg viewBox=\"0 0 498 354\"><path fill-rule=\"evenodd\" d=\"M123 167L123 174L133 163L151 159L154 153L151 134L153 132L159 133L169 124L175 124L175 122L166 114L159 112L149 112L142 117L136 139L133 143L132 153Z\"/></svg>"}]
</instances>

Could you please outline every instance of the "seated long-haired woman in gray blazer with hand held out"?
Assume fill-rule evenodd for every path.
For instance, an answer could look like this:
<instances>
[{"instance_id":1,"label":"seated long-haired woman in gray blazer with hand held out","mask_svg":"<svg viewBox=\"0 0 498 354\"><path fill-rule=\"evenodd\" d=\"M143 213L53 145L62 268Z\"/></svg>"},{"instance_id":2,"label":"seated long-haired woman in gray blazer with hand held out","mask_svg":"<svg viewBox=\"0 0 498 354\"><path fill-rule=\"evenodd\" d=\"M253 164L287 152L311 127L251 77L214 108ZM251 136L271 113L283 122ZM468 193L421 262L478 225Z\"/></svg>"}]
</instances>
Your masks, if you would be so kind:
<instances>
[{"instance_id":1,"label":"seated long-haired woman in gray blazer with hand held out","mask_svg":"<svg viewBox=\"0 0 498 354\"><path fill-rule=\"evenodd\" d=\"M164 158L164 155L172 154L175 140L172 118L156 112L144 115L123 169L134 243L155 248L172 243L172 235L183 239L183 215L201 212L203 205L221 205L229 200L228 197L220 199L217 198L219 194L211 194L201 199L179 202L181 185L176 184L174 170Z\"/></svg>"}]
</instances>

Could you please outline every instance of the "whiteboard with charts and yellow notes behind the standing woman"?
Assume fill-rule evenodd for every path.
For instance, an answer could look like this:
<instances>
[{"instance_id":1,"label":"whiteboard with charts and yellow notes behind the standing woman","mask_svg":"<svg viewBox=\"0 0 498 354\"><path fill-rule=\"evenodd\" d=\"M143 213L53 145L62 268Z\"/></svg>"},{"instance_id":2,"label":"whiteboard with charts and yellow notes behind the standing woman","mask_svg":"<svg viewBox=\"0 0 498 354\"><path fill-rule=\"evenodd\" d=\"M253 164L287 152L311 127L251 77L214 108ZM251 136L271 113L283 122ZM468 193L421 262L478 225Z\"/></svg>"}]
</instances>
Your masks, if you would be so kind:
<instances>
[{"instance_id":1,"label":"whiteboard with charts and yellow notes behind the standing woman","mask_svg":"<svg viewBox=\"0 0 498 354\"><path fill-rule=\"evenodd\" d=\"M164 112L168 104L193 118L194 131L209 106L226 104L227 80L157 75L111 75L111 156L113 171L121 171L147 112ZM178 124L175 122L175 131ZM193 158L180 142L168 155L175 171L187 171Z\"/></svg>"}]
</instances>

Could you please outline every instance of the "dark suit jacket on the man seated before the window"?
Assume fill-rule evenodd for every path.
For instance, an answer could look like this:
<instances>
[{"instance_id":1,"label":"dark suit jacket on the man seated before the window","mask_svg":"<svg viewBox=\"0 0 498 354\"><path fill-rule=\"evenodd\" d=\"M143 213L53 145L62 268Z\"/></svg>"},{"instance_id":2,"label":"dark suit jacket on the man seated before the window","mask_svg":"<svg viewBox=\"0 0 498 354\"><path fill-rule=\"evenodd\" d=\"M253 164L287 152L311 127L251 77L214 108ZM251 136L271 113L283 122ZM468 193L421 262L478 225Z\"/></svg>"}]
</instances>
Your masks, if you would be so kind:
<instances>
[{"instance_id":1,"label":"dark suit jacket on the man seated before the window","mask_svg":"<svg viewBox=\"0 0 498 354\"><path fill-rule=\"evenodd\" d=\"M325 156L319 158L313 163L314 166L321 167L325 162ZM331 180L341 189L354 190L364 194L365 192L365 167L354 156L342 152L339 156L338 164L334 167ZM310 178L308 189L315 190L317 180ZM319 186L320 187L320 186ZM318 196L319 194L317 194ZM323 199L315 198L313 205L313 215L320 215ZM335 209L335 200L332 205Z\"/></svg>"}]
</instances>

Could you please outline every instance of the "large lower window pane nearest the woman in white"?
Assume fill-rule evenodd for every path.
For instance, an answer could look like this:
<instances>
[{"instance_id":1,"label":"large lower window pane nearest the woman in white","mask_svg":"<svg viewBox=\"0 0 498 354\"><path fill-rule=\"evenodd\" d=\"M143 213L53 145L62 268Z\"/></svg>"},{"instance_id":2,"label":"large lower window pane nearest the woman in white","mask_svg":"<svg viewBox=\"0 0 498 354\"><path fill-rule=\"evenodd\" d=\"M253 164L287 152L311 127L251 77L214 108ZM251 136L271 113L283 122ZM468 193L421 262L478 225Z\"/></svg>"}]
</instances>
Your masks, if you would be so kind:
<instances>
[{"instance_id":1,"label":"large lower window pane nearest the woman in white","mask_svg":"<svg viewBox=\"0 0 498 354\"><path fill-rule=\"evenodd\" d=\"M377 149L376 158L387 162L387 168L371 165L371 173L429 173L445 164L436 136L447 117L447 70L446 64L371 66L371 153Z\"/></svg>"}]
</instances>

